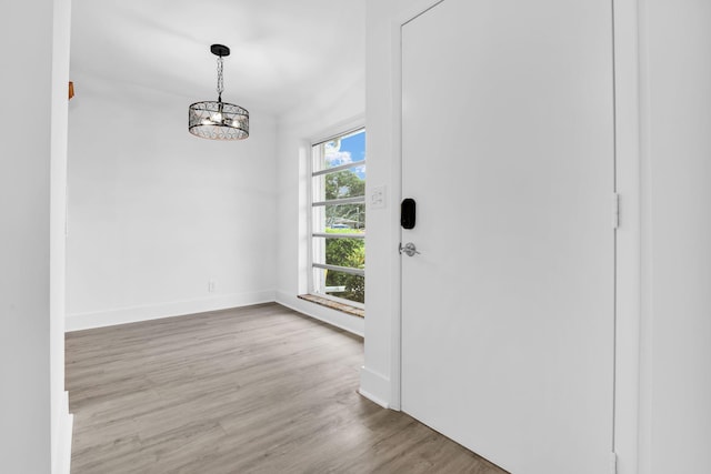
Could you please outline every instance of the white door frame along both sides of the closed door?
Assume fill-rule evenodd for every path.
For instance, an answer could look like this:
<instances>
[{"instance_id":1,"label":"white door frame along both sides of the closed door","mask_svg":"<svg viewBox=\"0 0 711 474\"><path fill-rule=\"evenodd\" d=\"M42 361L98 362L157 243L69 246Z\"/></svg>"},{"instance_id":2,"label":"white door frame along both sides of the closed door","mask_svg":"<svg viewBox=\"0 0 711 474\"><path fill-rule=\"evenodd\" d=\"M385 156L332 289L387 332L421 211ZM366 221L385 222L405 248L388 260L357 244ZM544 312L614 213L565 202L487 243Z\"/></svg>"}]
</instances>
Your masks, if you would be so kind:
<instances>
[{"instance_id":1,"label":"white door frame along both sides of the closed door","mask_svg":"<svg viewBox=\"0 0 711 474\"><path fill-rule=\"evenodd\" d=\"M402 41L401 29L409 21L447 0L413 1L391 22L391 78L394 161L392 195L402 200ZM620 228L615 236L615 366L614 433L611 446L618 455L618 473L638 473L640 410L641 320L641 184L639 117L639 13L638 0L610 0L613 10L614 162L615 190L620 195ZM398 225L399 233L399 225ZM393 251L400 269L400 255ZM392 341L389 407L401 406L402 311L400 271L392 285Z\"/></svg>"}]
</instances>

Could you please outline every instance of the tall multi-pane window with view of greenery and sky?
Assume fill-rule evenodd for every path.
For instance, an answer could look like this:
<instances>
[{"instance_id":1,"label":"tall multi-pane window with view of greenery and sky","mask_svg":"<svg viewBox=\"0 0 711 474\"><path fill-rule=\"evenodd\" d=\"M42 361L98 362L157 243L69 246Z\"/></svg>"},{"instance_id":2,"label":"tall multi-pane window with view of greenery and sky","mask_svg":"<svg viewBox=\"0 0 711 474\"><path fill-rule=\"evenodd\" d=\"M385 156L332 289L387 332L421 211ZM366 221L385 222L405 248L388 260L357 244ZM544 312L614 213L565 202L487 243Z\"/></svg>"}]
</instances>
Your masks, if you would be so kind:
<instances>
[{"instance_id":1,"label":"tall multi-pane window with view of greenery and sky","mask_svg":"<svg viewBox=\"0 0 711 474\"><path fill-rule=\"evenodd\" d=\"M365 302L365 130L311 148L310 293Z\"/></svg>"}]
</instances>

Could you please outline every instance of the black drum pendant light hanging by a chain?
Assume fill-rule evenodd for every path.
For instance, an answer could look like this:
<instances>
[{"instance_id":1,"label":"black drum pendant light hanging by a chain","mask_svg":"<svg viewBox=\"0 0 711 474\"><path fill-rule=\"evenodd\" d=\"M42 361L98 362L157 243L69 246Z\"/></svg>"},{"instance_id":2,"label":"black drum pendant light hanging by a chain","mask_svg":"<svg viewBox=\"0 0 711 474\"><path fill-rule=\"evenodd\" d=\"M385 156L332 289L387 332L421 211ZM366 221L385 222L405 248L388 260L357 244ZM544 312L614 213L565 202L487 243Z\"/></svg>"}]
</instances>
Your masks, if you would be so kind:
<instances>
[{"instance_id":1,"label":"black drum pendant light hanging by a chain","mask_svg":"<svg viewBox=\"0 0 711 474\"><path fill-rule=\"evenodd\" d=\"M249 112L239 105L222 102L222 58L230 56L223 44L212 44L218 57L218 101L196 102L188 110L188 130L196 137L210 140L243 140L249 137Z\"/></svg>"}]
</instances>

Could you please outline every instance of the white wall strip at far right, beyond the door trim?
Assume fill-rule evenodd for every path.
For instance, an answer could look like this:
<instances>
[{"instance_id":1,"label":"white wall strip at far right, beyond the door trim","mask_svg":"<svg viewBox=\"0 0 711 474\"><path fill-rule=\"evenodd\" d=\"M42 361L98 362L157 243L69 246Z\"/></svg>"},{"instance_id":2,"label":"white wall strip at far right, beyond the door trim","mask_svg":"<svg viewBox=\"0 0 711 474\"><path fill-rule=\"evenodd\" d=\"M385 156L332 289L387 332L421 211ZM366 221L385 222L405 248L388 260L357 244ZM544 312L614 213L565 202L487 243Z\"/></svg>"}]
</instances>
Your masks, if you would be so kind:
<instances>
[{"instance_id":1,"label":"white wall strip at far right, beyond the door trim","mask_svg":"<svg viewBox=\"0 0 711 474\"><path fill-rule=\"evenodd\" d=\"M711 472L711 3L643 0L640 473Z\"/></svg>"}]
</instances>

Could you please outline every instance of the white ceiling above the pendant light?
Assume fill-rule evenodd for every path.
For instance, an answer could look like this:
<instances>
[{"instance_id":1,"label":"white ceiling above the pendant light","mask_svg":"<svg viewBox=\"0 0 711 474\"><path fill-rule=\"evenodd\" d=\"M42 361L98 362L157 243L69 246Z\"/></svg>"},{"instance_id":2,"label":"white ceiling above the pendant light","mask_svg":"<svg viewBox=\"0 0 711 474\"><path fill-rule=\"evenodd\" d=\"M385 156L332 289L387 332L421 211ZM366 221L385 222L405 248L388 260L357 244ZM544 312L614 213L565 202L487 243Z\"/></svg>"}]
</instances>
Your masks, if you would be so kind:
<instances>
[{"instance_id":1,"label":"white ceiling above the pendant light","mask_svg":"<svg viewBox=\"0 0 711 474\"><path fill-rule=\"evenodd\" d=\"M73 0L71 80L223 100L282 114L334 83L364 75L365 0ZM186 104L187 105L187 104Z\"/></svg>"}]
</instances>

